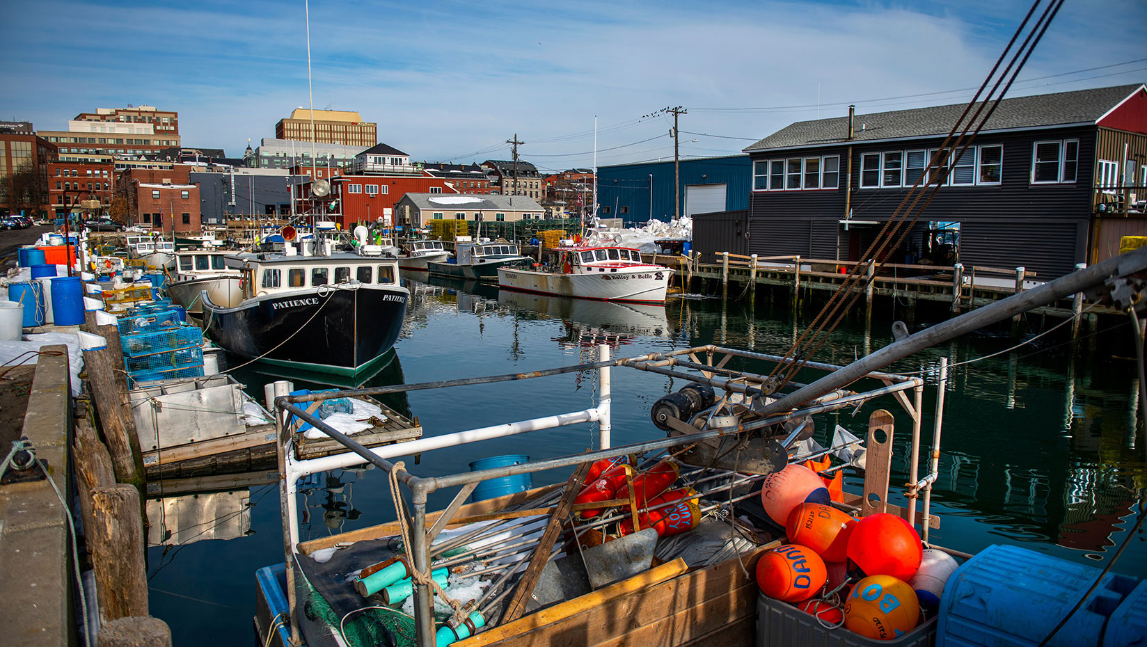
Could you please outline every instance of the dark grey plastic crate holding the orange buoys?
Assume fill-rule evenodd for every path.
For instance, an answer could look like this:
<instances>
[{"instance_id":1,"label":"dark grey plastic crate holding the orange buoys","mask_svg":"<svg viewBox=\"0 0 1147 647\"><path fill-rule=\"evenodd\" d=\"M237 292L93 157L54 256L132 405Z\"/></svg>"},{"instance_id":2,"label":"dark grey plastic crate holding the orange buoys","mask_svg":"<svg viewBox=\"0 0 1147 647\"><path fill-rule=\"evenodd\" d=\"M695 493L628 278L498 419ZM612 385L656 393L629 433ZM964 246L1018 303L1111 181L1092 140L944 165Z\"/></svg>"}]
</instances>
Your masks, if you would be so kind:
<instances>
[{"instance_id":1,"label":"dark grey plastic crate holding the orange buoys","mask_svg":"<svg viewBox=\"0 0 1147 647\"><path fill-rule=\"evenodd\" d=\"M825 629L812 614L788 602L757 595L757 647L933 647L935 644L935 616L899 638L876 640L843 626Z\"/></svg>"}]
</instances>

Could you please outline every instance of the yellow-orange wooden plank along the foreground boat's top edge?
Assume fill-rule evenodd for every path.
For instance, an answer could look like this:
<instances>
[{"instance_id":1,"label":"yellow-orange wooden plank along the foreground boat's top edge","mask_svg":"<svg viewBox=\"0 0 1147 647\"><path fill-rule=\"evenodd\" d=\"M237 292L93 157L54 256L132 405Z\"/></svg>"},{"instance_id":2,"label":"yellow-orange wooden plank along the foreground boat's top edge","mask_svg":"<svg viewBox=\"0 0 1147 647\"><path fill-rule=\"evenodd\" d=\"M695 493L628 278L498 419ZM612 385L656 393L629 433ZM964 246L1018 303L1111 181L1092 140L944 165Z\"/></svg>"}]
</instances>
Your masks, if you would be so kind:
<instances>
[{"instance_id":1,"label":"yellow-orange wooden plank along the foreground boat's top edge","mask_svg":"<svg viewBox=\"0 0 1147 647\"><path fill-rule=\"evenodd\" d=\"M483 645L493 645L499 640L510 637L523 637L525 641L508 641L504 644L505 647L509 647L510 645L530 645L529 640L539 633L533 631L538 627L563 624L560 621L571 617L584 618L591 614L596 615L596 611L609 606L610 602L632 599L637 593L647 591L651 585L679 578L687 570L688 567L685 566L685 560L678 558L660 567L654 567L645 572L634 575L629 579L610 584L604 588L599 588L592 593L586 593L572 600L547 607L514 622L500 624L477 636L455 642L454 646L479 647Z\"/></svg>"}]
</instances>

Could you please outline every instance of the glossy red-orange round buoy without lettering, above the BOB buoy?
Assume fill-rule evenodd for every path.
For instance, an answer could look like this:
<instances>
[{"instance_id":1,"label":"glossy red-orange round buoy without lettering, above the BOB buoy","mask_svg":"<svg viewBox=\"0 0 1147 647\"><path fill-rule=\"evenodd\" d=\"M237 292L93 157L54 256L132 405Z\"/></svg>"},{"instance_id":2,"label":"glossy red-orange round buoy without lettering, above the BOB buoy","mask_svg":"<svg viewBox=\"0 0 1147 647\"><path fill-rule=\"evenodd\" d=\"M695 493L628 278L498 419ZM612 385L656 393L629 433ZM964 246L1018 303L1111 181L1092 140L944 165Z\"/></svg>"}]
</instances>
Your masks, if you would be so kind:
<instances>
[{"instance_id":1,"label":"glossy red-orange round buoy without lettering, above the BOB buoy","mask_svg":"<svg viewBox=\"0 0 1147 647\"><path fill-rule=\"evenodd\" d=\"M907 582L920 569L923 546L916 530L895 514L877 513L857 522L848 556L865 575L889 575Z\"/></svg>"}]
</instances>

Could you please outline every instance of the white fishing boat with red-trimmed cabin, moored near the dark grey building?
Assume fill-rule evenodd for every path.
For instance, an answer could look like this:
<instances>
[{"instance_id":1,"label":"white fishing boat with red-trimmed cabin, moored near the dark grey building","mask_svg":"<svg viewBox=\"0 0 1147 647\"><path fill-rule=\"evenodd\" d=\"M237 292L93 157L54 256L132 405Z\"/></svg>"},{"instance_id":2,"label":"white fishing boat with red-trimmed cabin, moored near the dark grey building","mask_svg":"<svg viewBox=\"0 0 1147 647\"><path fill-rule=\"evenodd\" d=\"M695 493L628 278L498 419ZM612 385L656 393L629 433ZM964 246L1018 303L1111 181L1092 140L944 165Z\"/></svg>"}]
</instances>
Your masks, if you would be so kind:
<instances>
[{"instance_id":1,"label":"white fishing boat with red-trimmed cabin, moored near the dark grey building","mask_svg":"<svg viewBox=\"0 0 1147 647\"><path fill-rule=\"evenodd\" d=\"M673 271L641 260L637 249L569 245L553 252L555 262L540 267L500 267L498 287L595 301L665 303Z\"/></svg>"}]
</instances>

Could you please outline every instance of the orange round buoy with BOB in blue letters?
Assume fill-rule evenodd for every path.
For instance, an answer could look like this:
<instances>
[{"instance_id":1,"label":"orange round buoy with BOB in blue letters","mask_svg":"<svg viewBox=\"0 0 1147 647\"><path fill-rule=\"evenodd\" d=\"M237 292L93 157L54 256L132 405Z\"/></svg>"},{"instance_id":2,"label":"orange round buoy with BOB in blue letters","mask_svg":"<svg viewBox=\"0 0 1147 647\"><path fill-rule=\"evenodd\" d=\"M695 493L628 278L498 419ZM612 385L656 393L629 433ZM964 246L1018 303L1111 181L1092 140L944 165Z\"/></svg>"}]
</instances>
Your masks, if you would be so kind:
<instances>
[{"instance_id":1,"label":"orange round buoy with BOB in blue letters","mask_svg":"<svg viewBox=\"0 0 1147 647\"><path fill-rule=\"evenodd\" d=\"M915 591L888 575L861 579L844 603L844 626L866 638L891 640L912 631L919 622Z\"/></svg>"}]
</instances>

